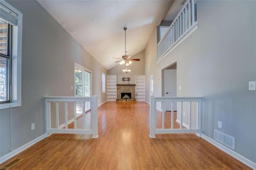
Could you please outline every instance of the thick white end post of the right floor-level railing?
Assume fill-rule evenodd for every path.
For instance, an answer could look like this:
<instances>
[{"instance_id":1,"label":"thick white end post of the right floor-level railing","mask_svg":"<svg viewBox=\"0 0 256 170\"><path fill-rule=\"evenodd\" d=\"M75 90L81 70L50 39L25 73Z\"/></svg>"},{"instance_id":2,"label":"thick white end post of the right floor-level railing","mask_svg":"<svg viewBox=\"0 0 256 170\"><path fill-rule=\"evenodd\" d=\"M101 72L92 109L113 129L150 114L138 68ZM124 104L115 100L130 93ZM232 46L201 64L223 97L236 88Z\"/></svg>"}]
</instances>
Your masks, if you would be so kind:
<instances>
[{"instance_id":1,"label":"thick white end post of the right floor-level railing","mask_svg":"<svg viewBox=\"0 0 256 170\"><path fill-rule=\"evenodd\" d=\"M150 96L150 138L156 138L156 102L155 97Z\"/></svg>"}]
</instances>

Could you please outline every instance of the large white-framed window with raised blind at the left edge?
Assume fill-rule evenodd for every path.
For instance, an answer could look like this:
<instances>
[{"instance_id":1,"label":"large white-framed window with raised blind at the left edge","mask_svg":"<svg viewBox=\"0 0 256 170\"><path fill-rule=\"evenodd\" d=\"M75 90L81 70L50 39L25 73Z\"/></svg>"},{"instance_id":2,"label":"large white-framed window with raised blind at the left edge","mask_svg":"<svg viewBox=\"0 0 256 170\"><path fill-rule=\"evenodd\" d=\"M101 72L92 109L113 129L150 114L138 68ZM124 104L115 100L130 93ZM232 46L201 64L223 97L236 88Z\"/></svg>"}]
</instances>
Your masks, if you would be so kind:
<instances>
[{"instance_id":1,"label":"large white-framed window with raised blind at the left edge","mask_svg":"<svg viewBox=\"0 0 256 170\"><path fill-rule=\"evenodd\" d=\"M0 2L0 109L21 106L22 14Z\"/></svg>"}]
</instances>

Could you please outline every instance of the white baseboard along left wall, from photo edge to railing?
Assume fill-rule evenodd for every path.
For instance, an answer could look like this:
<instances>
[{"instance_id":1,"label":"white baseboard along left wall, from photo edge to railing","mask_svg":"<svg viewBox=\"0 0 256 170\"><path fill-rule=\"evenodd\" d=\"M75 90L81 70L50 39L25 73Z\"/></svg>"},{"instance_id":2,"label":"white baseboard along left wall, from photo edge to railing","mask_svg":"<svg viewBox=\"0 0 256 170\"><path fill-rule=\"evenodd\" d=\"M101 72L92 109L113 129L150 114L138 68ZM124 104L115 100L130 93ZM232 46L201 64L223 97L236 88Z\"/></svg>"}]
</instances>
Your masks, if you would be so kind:
<instances>
[{"instance_id":1,"label":"white baseboard along left wall, from photo edge to railing","mask_svg":"<svg viewBox=\"0 0 256 170\"><path fill-rule=\"evenodd\" d=\"M5 162L6 160L12 158L13 156L15 156L16 154L19 154L20 152L22 152L23 150L29 148L30 146L32 146L33 144L36 144L37 142L39 142L40 140L44 139L47 137L47 134L43 134L42 136L39 136L38 138L35 138L34 140L31 140L30 142L24 144L23 146L20 146L19 148L9 152L8 154L0 157L0 164L2 164L3 162Z\"/></svg>"}]
</instances>

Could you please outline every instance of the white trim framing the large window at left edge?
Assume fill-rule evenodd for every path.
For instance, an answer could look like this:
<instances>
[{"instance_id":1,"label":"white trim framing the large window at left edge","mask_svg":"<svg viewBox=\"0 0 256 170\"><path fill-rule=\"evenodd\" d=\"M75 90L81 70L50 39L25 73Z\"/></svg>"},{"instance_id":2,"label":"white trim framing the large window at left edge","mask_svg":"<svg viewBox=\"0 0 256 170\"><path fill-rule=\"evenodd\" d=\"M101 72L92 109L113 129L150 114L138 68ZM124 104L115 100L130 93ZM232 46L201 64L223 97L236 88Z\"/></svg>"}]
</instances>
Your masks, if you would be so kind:
<instances>
[{"instance_id":1,"label":"white trim framing the large window at left edge","mask_svg":"<svg viewBox=\"0 0 256 170\"><path fill-rule=\"evenodd\" d=\"M16 51L16 59L17 59L17 64L16 64L16 70L12 72L12 78L14 78L15 74L15 79L13 82L16 81L16 87L15 85L12 87L12 97L15 95L16 97L12 98L13 101L12 103L4 103L0 104L0 109L8 109L11 107L20 107L21 106L21 57L22 57L22 13L16 10L14 7L12 7L10 4L8 4L6 1L1 0L1 4L3 4L6 8L10 9L12 12L16 13L18 15L18 23L17 26L14 26L13 28L17 28L17 51Z\"/></svg>"}]
</instances>

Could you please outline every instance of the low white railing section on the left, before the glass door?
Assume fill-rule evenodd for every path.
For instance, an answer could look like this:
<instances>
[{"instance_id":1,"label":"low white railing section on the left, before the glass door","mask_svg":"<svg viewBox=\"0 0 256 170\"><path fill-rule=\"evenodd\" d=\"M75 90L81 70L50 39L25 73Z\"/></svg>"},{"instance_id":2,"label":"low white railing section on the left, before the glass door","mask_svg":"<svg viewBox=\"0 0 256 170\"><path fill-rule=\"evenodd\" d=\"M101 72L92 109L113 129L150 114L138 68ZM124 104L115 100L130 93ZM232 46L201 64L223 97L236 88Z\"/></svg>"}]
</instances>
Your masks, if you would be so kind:
<instances>
[{"instance_id":1,"label":"low white railing section on the left, before the glass door","mask_svg":"<svg viewBox=\"0 0 256 170\"><path fill-rule=\"evenodd\" d=\"M86 121L85 109L83 107L82 113L82 128L77 128L77 114L76 114L76 105L77 103L85 102L91 103L91 116L90 120ZM97 96L93 97L45 97L45 114L46 114L46 133L72 133L72 134L92 134L92 138L98 138L98 104L97 104ZM51 104L55 103L52 107L55 109L51 109ZM59 113L59 103L64 103L64 114ZM68 105L72 105L73 103L73 116L74 116L74 128L68 128ZM62 109L63 110L63 109ZM51 114L53 113L53 114ZM55 113L55 114L54 114ZM64 115L64 119L62 116ZM55 119L55 128L52 128L51 121ZM65 120L64 128L59 125L60 119ZM90 128L87 128L88 125Z\"/></svg>"}]
</instances>

